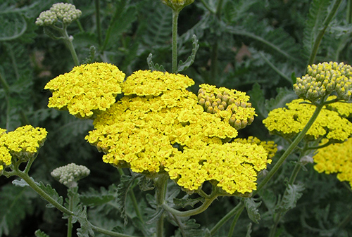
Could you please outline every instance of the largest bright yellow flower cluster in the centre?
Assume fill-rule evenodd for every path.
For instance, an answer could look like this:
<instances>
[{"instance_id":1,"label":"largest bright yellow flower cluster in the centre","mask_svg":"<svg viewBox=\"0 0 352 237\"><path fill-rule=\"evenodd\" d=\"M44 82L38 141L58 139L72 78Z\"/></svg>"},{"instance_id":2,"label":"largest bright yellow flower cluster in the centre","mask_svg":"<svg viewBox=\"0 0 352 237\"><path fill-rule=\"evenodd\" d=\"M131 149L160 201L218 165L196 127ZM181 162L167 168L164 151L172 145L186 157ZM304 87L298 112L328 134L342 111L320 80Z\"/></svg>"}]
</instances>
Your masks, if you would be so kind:
<instances>
[{"instance_id":1,"label":"largest bright yellow flower cluster in the centre","mask_svg":"<svg viewBox=\"0 0 352 237\"><path fill-rule=\"evenodd\" d=\"M193 83L167 72L134 72L122 84L125 96L96 116L87 141L105 153L104 162L144 174L168 172L189 190L213 181L230 194L251 192L270 162L268 152L256 144L224 143L237 130L203 111L186 90Z\"/></svg>"}]
</instances>

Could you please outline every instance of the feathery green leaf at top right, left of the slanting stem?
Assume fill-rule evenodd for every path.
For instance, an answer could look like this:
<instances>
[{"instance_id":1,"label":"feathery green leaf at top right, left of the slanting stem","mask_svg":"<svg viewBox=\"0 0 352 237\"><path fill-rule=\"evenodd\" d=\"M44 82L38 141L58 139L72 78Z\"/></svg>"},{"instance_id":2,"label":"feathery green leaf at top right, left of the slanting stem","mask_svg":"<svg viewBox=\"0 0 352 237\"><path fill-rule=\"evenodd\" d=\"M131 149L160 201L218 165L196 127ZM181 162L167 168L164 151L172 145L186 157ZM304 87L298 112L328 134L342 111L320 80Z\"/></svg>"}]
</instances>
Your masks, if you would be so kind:
<instances>
[{"instance_id":1,"label":"feathery green leaf at top right, left of the slanting stem","mask_svg":"<svg viewBox=\"0 0 352 237\"><path fill-rule=\"evenodd\" d=\"M309 14L303 30L303 49L306 58L310 57L313 45L322 30L322 23L327 17L331 0L313 0L310 3Z\"/></svg>"}]
</instances>

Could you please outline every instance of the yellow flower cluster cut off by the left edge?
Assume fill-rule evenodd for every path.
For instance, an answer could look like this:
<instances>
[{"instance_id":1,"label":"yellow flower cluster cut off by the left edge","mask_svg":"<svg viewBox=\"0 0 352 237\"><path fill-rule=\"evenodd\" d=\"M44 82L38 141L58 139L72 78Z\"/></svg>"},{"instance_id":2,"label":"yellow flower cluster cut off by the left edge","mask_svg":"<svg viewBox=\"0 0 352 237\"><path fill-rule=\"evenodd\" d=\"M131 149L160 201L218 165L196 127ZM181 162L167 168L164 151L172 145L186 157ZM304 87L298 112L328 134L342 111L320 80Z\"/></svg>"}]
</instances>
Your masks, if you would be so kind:
<instances>
[{"instance_id":1,"label":"yellow flower cluster cut off by the left edge","mask_svg":"<svg viewBox=\"0 0 352 237\"><path fill-rule=\"evenodd\" d=\"M11 159L27 162L33 158L46 139L46 130L31 125L18 127L6 133L0 129L0 171L4 166L11 165Z\"/></svg>"}]
</instances>

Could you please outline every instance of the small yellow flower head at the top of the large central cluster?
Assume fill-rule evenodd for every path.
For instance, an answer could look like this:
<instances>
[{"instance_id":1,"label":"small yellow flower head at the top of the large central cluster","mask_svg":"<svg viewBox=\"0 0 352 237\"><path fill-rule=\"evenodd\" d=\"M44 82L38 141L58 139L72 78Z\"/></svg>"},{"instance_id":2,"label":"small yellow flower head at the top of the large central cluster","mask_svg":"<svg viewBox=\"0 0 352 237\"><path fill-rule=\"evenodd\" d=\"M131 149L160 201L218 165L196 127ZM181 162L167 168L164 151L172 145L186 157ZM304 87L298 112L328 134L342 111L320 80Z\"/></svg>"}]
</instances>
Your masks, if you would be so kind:
<instances>
[{"instance_id":1,"label":"small yellow flower head at the top of the large central cluster","mask_svg":"<svg viewBox=\"0 0 352 237\"><path fill-rule=\"evenodd\" d=\"M126 96L160 96L165 91L186 89L193 84L193 79L185 75L139 70L127 77L122 84L122 92Z\"/></svg>"}]
</instances>

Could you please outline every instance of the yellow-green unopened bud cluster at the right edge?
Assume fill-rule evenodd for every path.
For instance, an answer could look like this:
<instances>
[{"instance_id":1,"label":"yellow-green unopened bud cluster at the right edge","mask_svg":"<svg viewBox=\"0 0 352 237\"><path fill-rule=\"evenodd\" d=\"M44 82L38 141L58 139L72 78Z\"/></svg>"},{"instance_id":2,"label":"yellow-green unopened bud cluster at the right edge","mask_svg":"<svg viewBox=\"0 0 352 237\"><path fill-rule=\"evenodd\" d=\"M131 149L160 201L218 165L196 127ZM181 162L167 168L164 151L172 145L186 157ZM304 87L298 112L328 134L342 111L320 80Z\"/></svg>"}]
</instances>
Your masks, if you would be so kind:
<instances>
[{"instance_id":1,"label":"yellow-green unopened bud cluster at the right edge","mask_svg":"<svg viewBox=\"0 0 352 237\"><path fill-rule=\"evenodd\" d=\"M297 77L294 91L309 101L328 96L337 95L337 100L348 101L352 95L352 67L344 63L318 63L309 65L307 74Z\"/></svg>"}]
</instances>

